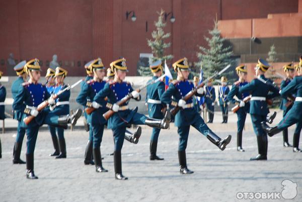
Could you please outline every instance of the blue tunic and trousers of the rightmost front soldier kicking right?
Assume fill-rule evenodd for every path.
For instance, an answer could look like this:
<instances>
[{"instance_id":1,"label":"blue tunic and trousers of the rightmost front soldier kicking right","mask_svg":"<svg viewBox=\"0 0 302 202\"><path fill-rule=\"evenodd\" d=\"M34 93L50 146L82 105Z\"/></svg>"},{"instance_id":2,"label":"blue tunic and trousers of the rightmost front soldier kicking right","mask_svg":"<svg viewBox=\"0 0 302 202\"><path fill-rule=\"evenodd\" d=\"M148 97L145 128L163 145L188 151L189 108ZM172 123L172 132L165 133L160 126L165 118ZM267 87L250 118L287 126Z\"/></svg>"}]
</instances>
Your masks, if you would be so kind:
<instances>
[{"instance_id":1,"label":"blue tunic and trousers of the rightmost front soldier kicking right","mask_svg":"<svg viewBox=\"0 0 302 202\"><path fill-rule=\"evenodd\" d=\"M178 101L193 88L194 84L191 81L173 81L169 84L167 91L161 96L161 101L165 104L171 104L173 96L173 101L178 103ZM196 95L202 96L201 94ZM204 136L207 136L207 134L211 131L204 123L199 113L195 110L195 108L193 108L192 104L193 99L191 97L186 101L186 108L181 109L175 116L175 126L178 127L177 131L179 134L179 151L184 151L187 148L190 126L196 128Z\"/></svg>"}]
</instances>

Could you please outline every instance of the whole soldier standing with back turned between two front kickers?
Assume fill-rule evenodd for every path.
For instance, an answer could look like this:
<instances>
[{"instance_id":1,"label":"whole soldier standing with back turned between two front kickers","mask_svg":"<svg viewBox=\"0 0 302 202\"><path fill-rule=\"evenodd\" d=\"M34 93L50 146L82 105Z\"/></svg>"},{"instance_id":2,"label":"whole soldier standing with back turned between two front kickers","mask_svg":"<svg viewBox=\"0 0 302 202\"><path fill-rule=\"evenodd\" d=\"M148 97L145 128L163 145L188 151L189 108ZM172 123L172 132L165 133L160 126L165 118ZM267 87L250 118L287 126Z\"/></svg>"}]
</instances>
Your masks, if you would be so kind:
<instances>
[{"instance_id":1,"label":"whole soldier standing with back turned between two front kickers","mask_svg":"<svg viewBox=\"0 0 302 202\"><path fill-rule=\"evenodd\" d=\"M153 73L152 80L158 79L160 76L162 76L163 73L162 61L159 60L153 63L152 65L150 65L150 69ZM149 80L148 82L150 81L151 80ZM164 92L165 83L163 81L159 81L147 86L146 103L150 118L164 118L164 115L162 113L162 109L164 108L164 106L162 105L162 102L160 100L160 97ZM164 158L160 158L156 155L160 131L160 128L153 128L150 140L150 160L164 160Z\"/></svg>"}]
</instances>

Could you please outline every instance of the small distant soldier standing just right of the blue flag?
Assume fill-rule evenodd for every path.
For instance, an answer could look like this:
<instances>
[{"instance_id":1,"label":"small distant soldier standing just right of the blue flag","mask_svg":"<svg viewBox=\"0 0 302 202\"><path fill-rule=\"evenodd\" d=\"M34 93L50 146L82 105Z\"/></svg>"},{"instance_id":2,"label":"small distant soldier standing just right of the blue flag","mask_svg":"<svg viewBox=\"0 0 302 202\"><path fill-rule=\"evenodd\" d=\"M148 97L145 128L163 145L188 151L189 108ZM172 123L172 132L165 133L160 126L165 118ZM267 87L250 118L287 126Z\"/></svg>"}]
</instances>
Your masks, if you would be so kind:
<instances>
[{"instance_id":1,"label":"small distant soldier standing just right of the blue flag","mask_svg":"<svg viewBox=\"0 0 302 202\"><path fill-rule=\"evenodd\" d=\"M213 87L213 79L208 80L205 87L205 104L208 110L209 121L207 123L213 123L214 120L214 106L215 106L216 94Z\"/></svg>"}]
</instances>

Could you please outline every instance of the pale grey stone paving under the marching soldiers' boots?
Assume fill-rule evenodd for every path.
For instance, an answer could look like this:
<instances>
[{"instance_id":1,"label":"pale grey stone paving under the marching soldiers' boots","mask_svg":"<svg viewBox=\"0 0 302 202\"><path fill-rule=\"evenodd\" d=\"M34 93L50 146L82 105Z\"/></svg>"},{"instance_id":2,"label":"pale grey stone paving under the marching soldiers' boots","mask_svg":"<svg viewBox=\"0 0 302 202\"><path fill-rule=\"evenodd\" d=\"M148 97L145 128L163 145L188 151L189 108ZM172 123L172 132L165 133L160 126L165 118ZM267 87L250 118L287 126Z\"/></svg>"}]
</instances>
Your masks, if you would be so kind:
<instances>
[{"instance_id":1,"label":"pale grey stone paving under the marching soldiers' boots","mask_svg":"<svg viewBox=\"0 0 302 202\"><path fill-rule=\"evenodd\" d=\"M219 136L226 135L223 128L212 126ZM0 201L240 201L237 192L280 192L284 179L297 182L294 201L302 201L302 154L283 148L281 134L269 138L268 161L251 162L249 158L257 154L252 131L244 133L246 152L239 153L234 132L230 146L222 152L191 128L187 162L195 173L181 175L177 129L173 126L160 135L158 155L164 161L148 160L151 131L143 128L137 145L124 143L122 162L127 181L114 179L113 157L108 155L113 151L110 130L105 130L101 146L108 173L96 173L94 166L84 165L87 132L65 132L67 159L60 160L48 156L53 151L51 138L47 131L40 132L35 150L38 180L26 179L25 165L12 164L14 133L0 134ZM291 143L292 132L290 129ZM25 160L25 142L23 145Z\"/></svg>"}]
</instances>

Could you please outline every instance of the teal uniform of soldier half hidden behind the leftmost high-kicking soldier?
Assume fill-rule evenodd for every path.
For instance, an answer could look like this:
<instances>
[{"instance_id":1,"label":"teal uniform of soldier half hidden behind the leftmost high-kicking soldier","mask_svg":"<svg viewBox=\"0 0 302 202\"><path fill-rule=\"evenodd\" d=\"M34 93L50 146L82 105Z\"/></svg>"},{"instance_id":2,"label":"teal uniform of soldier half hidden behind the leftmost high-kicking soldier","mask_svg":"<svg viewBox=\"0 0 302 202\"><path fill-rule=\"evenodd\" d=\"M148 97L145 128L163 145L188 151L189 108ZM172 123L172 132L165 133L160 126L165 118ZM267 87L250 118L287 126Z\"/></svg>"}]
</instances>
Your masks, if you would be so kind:
<instances>
[{"instance_id":1,"label":"teal uniform of soldier half hidden behind the leftmost high-kicking soldier","mask_svg":"<svg viewBox=\"0 0 302 202\"><path fill-rule=\"evenodd\" d=\"M24 83L24 80L22 77L18 77L13 83L12 83L12 95L13 99L15 99L16 94L19 91L20 86ZM22 143L24 136L25 136L25 129L21 127L21 122L22 122L22 117L23 117L23 112L25 109L25 105L21 104L22 108L20 110L14 110L14 119L18 120L18 128L17 128L17 137L16 137L16 142Z\"/></svg>"}]
</instances>

